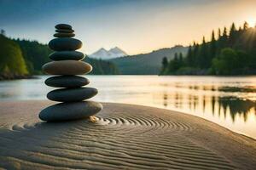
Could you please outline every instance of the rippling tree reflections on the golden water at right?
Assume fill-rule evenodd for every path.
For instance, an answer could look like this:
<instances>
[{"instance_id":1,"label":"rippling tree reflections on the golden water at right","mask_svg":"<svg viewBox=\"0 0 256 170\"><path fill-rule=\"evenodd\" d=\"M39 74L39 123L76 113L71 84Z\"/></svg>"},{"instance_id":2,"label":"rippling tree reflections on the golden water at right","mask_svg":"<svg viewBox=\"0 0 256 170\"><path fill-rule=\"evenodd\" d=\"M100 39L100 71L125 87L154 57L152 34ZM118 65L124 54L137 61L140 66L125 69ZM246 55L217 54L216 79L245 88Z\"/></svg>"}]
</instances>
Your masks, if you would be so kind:
<instances>
[{"instance_id":1,"label":"rippling tree reflections on the golden water at right","mask_svg":"<svg viewBox=\"0 0 256 170\"><path fill-rule=\"evenodd\" d=\"M166 85L165 85L166 86ZM184 86L177 86L175 88L185 88ZM205 91L216 91L217 89L228 89L230 92L237 92L235 89L238 89L238 92L253 92L255 89L243 89L243 88L232 88L232 87L207 87L207 86L188 86L189 89L193 90L205 90ZM218 90L218 91L222 91ZM235 122L236 115L242 116L243 121L247 122L247 116L249 113L253 113L256 116L256 102L250 99L242 99L236 96L218 96L218 94L188 94L183 93L179 90L173 93L167 93L166 91L162 94L163 97L163 106L166 108L175 107L177 110L189 109L190 112L199 112L199 113L211 113L212 116L215 114L218 116L230 114L232 121ZM186 105L189 105L186 107ZM211 111L207 110L211 108Z\"/></svg>"}]
</instances>

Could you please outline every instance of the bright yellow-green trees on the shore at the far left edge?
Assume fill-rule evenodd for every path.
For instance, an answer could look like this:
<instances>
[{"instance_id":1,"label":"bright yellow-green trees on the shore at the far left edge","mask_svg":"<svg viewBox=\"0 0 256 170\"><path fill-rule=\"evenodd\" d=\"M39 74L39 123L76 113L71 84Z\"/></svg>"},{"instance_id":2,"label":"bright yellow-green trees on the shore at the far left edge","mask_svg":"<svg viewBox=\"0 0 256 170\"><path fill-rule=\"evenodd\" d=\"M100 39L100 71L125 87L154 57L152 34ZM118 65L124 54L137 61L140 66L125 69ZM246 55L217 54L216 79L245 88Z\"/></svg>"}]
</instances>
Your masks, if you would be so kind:
<instances>
[{"instance_id":1,"label":"bright yellow-green trees on the shore at the far left edge","mask_svg":"<svg viewBox=\"0 0 256 170\"><path fill-rule=\"evenodd\" d=\"M28 71L20 46L2 34L0 44L0 74L26 75Z\"/></svg>"}]
</instances>

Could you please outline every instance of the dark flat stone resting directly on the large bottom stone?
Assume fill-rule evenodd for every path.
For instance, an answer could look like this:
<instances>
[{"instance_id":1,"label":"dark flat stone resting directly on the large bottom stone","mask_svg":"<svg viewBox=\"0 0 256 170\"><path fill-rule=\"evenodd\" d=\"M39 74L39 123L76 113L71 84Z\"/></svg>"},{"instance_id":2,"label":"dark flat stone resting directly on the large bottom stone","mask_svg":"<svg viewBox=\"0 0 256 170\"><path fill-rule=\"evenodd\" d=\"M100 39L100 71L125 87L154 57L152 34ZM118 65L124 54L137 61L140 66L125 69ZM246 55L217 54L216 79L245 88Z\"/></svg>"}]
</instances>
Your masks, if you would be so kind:
<instances>
[{"instance_id":1,"label":"dark flat stone resting directly on the large bottom stone","mask_svg":"<svg viewBox=\"0 0 256 170\"><path fill-rule=\"evenodd\" d=\"M53 101L74 102L90 99L97 93L96 88L60 88L50 91L47 98Z\"/></svg>"}]
</instances>

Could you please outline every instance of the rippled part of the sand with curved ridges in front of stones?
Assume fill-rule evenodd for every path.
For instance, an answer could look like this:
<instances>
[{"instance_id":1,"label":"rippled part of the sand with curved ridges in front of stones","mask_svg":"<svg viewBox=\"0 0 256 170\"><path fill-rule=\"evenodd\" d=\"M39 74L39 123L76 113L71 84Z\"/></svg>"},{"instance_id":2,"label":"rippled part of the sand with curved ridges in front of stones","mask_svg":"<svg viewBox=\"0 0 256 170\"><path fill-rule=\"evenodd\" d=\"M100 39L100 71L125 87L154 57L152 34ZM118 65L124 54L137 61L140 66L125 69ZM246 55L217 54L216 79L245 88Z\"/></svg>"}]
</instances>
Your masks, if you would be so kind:
<instances>
[{"instance_id":1,"label":"rippled part of the sand with curved ridges in front of stones","mask_svg":"<svg viewBox=\"0 0 256 170\"><path fill-rule=\"evenodd\" d=\"M114 111L97 122L15 122L0 133L0 167L235 169L183 135L193 130L168 116Z\"/></svg>"}]
</instances>

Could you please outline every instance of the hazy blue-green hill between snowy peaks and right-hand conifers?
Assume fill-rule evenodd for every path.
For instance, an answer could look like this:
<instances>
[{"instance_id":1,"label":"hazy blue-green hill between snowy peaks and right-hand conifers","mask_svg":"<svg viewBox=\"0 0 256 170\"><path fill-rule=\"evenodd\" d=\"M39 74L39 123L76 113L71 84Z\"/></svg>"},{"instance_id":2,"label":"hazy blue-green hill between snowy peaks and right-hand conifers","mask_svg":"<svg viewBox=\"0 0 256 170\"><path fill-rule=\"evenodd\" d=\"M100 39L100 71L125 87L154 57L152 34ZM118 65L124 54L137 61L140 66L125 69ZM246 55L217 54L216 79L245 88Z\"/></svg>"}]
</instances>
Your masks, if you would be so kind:
<instances>
[{"instance_id":1,"label":"hazy blue-green hill between snowy peaks and right-hand conifers","mask_svg":"<svg viewBox=\"0 0 256 170\"><path fill-rule=\"evenodd\" d=\"M120 74L125 75L158 75L161 62L164 57L173 59L175 53L186 54L187 47L175 46L173 48L162 48L148 54L137 54L116 59L109 59L119 67Z\"/></svg>"}]
</instances>

